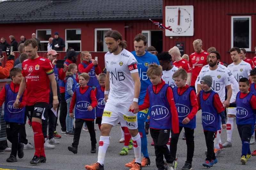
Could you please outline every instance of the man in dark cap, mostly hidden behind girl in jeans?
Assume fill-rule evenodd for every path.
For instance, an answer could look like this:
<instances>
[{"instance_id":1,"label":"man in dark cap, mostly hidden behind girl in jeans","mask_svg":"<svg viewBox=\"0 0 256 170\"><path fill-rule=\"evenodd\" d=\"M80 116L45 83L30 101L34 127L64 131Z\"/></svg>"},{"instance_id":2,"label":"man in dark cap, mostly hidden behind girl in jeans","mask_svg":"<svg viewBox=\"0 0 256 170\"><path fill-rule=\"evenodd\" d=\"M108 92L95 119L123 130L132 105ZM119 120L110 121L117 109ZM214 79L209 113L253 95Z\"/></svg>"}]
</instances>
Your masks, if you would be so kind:
<instances>
[{"instance_id":1,"label":"man in dark cap, mostly hidden behind girl in jeans","mask_svg":"<svg viewBox=\"0 0 256 170\"><path fill-rule=\"evenodd\" d=\"M77 60L77 53L75 50L68 51L66 57L66 61L64 64L67 64L67 66L71 63L76 63ZM78 76L76 74L76 82L79 82ZM60 85L60 95L61 95L61 101L60 101L60 126L61 126L61 133L66 132L66 117L67 117L67 102L65 100L65 81L59 80Z\"/></svg>"}]
</instances>

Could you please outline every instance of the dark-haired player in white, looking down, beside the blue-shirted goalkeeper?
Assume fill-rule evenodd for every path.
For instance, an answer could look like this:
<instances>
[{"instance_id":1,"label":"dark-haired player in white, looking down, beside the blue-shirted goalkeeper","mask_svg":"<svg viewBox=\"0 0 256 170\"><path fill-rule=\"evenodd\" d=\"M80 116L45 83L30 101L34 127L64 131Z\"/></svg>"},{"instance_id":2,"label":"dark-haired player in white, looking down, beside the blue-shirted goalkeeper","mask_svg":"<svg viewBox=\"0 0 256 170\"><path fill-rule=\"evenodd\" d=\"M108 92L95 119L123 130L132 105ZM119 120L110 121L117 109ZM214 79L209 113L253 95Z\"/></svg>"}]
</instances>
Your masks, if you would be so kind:
<instances>
[{"instance_id":1,"label":"dark-haired player in white, looking down, beside the blue-shirted goalkeeper","mask_svg":"<svg viewBox=\"0 0 256 170\"><path fill-rule=\"evenodd\" d=\"M157 55L158 61L163 68L162 79L164 82L172 87L176 86L172 78L173 73L179 70L177 67L171 65L172 56L168 52L159 53Z\"/></svg>"}]
</instances>

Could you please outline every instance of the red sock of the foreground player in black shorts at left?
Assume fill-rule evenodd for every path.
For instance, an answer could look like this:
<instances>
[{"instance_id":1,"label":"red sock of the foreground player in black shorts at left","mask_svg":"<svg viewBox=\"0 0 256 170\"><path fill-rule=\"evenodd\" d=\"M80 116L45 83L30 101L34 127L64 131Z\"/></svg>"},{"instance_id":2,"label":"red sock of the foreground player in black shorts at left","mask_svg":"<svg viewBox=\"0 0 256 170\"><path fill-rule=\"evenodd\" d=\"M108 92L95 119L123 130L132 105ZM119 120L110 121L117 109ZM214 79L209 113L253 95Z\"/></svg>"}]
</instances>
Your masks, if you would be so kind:
<instances>
[{"instance_id":1,"label":"red sock of the foreground player in black shorts at left","mask_svg":"<svg viewBox=\"0 0 256 170\"><path fill-rule=\"evenodd\" d=\"M40 123L32 122L32 129L34 132L34 144L35 144L35 150L36 150L35 156L40 157L41 142L42 142L41 136L43 135L42 128L40 127Z\"/></svg>"}]
</instances>

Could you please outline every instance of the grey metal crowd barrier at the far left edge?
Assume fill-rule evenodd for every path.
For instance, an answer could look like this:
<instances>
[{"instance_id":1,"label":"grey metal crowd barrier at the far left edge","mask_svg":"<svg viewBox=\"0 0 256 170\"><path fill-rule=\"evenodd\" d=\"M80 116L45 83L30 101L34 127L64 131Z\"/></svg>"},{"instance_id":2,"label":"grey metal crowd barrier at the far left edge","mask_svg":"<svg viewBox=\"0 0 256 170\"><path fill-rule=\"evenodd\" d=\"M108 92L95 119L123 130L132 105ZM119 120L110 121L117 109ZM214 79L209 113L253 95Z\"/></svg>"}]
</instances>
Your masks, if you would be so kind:
<instances>
[{"instance_id":1,"label":"grey metal crowd barrier at the far left edge","mask_svg":"<svg viewBox=\"0 0 256 170\"><path fill-rule=\"evenodd\" d=\"M12 79L0 79L0 92L4 88L4 85L10 84ZM0 107L0 141L6 140L6 125L4 121L4 103Z\"/></svg>"}]
</instances>

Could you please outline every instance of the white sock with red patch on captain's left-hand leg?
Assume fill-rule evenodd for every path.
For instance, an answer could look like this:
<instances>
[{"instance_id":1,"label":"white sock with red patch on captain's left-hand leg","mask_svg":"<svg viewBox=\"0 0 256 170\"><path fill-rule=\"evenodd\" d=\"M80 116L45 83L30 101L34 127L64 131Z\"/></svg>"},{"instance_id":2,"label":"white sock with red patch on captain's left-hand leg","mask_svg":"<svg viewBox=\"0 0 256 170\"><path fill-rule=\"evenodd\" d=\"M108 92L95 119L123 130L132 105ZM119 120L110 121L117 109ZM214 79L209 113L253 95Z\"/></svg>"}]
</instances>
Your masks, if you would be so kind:
<instances>
[{"instance_id":1,"label":"white sock with red patch on captain's left-hand leg","mask_svg":"<svg viewBox=\"0 0 256 170\"><path fill-rule=\"evenodd\" d=\"M100 165L104 164L105 155L109 146L109 136L103 137L100 136L100 142L99 142L99 151L98 151L98 161Z\"/></svg>"}]
</instances>

